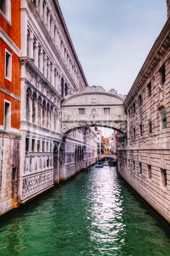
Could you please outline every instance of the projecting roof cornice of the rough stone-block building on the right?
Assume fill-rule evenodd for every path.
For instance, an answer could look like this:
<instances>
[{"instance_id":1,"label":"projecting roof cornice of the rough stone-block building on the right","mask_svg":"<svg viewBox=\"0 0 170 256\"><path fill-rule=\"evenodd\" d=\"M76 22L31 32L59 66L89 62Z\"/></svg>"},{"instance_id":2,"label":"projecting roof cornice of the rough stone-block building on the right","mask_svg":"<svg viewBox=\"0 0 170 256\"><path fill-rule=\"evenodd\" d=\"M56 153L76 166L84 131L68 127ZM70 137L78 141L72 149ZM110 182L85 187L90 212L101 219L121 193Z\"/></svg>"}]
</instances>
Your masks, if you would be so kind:
<instances>
[{"instance_id":1,"label":"projecting roof cornice of the rough stone-block building on the right","mask_svg":"<svg viewBox=\"0 0 170 256\"><path fill-rule=\"evenodd\" d=\"M141 88L145 85L148 78L152 78L153 71L155 71L155 68L159 64L160 60L162 60L166 52L169 50L169 46L170 46L170 35L169 35L170 29L169 28L170 28L170 19L167 20L158 38L153 44L152 49L148 54L148 57L146 58L141 70L139 71L138 76L136 77L136 80L134 81L131 87L131 90L127 94L127 97L124 101L124 105L126 108L134 100L134 97L136 97L139 90L141 90Z\"/></svg>"}]
</instances>

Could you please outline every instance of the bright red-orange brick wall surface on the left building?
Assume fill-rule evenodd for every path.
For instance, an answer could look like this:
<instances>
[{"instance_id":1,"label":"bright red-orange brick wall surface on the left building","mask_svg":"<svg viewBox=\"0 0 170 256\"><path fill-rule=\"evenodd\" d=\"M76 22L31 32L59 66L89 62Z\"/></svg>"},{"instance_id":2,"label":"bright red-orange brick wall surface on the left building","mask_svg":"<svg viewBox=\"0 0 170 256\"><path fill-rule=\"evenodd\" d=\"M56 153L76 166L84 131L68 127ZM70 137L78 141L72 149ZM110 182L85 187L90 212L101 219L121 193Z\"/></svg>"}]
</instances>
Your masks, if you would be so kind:
<instances>
[{"instance_id":1,"label":"bright red-orange brick wall surface on the left building","mask_svg":"<svg viewBox=\"0 0 170 256\"><path fill-rule=\"evenodd\" d=\"M20 48L20 0L11 0L11 25L0 13L0 27L8 34L13 43ZM11 82L4 77L5 49L12 55ZM19 57L0 38L0 85L20 97L20 60ZM4 99L11 102L11 127L20 128L20 101L0 92L0 125L4 125Z\"/></svg>"}]
</instances>

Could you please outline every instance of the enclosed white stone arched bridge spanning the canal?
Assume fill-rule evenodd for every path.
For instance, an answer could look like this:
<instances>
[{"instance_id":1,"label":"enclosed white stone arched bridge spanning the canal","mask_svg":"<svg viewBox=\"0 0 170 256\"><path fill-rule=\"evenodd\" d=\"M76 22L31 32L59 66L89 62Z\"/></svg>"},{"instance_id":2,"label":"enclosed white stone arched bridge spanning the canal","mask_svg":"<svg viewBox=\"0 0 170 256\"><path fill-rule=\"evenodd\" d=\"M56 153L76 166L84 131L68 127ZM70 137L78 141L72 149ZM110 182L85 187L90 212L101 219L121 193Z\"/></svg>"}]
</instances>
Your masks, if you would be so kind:
<instances>
[{"instance_id":1,"label":"enclosed white stone arched bridge spanning the canal","mask_svg":"<svg viewBox=\"0 0 170 256\"><path fill-rule=\"evenodd\" d=\"M61 104L63 138L82 127L108 127L126 134L125 96L94 85L66 96Z\"/></svg>"}]
</instances>

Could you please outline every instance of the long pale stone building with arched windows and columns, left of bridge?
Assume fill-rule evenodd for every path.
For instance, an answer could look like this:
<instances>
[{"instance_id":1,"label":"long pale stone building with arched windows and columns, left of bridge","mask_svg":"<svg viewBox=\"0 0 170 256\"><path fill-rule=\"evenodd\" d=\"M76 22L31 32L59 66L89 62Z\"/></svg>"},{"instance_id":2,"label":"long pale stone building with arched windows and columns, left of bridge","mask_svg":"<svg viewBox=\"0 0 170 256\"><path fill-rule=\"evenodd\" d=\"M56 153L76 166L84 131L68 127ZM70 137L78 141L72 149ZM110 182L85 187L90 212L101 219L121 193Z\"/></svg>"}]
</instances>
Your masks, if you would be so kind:
<instances>
[{"instance_id":1,"label":"long pale stone building with arched windows and columns, left of bridge","mask_svg":"<svg viewBox=\"0 0 170 256\"><path fill-rule=\"evenodd\" d=\"M21 1L20 201L66 180L94 158L92 129L61 134L60 103L88 86L58 1Z\"/></svg>"}]
</instances>

